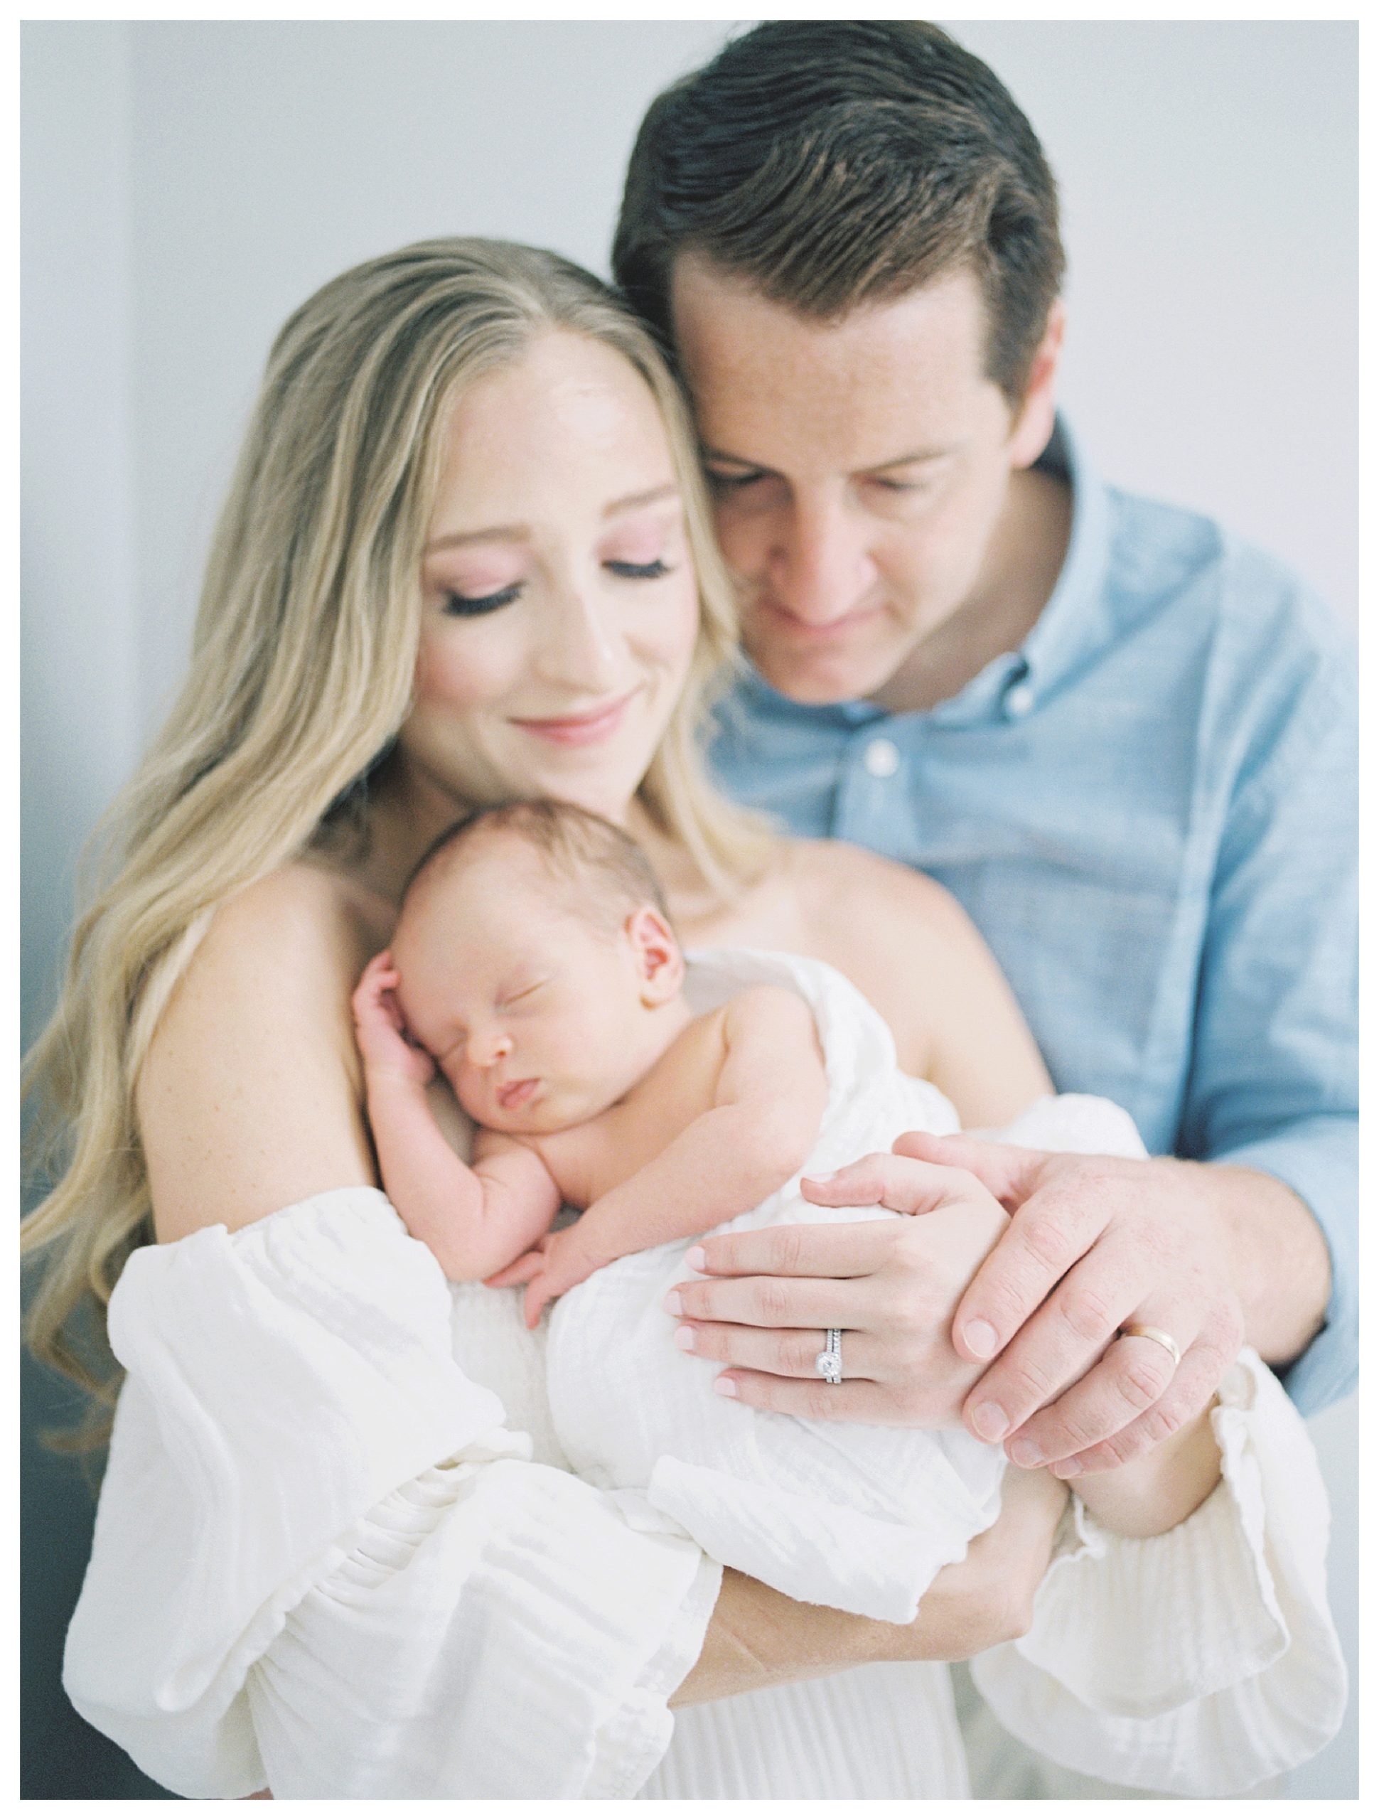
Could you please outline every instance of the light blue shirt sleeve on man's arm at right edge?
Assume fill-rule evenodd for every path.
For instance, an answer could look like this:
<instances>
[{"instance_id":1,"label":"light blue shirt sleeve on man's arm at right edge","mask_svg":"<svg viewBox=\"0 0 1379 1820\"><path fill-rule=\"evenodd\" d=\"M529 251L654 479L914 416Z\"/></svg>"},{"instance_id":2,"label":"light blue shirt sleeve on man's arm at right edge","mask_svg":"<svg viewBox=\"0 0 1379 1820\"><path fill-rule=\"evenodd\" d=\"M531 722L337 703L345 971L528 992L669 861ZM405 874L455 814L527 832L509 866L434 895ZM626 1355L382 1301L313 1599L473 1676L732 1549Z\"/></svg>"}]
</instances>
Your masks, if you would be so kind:
<instances>
[{"instance_id":1,"label":"light blue shirt sleeve on man's arm at right edge","mask_svg":"<svg viewBox=\"0 0 1379 1820\"><path fill-rule=\"evenodd\" d=\"M1255 581L1237 577L1257 597ZM1314 1414L1354 1389L1359 1360L1355 661L1319 602L1288 597L1261 619L1272 650L1226 666L1248 701L1221 712L1235 784L1179 1148L1275 1176L1317 1219L1326 1321L1284 1374Z\"/></svg>"}]
</instances>

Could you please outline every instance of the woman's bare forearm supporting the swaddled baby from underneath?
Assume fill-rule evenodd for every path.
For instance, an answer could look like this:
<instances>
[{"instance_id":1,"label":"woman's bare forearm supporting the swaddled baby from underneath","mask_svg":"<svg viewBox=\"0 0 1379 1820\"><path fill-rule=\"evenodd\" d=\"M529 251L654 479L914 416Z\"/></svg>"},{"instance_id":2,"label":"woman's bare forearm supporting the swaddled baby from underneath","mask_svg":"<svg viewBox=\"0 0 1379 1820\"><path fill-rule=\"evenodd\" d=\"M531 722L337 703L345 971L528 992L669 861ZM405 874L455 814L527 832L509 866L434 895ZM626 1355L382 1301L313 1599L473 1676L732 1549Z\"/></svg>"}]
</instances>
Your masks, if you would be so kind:
<instances>
[{"instance_id":1,"label":"woman's bare forearm supporting the swaddled baby from underneath","mask_svg":"<svg viewBox=\"0 0 1379 1820\"><path fill-rule=\"evenodd\" d=\"M704 1649L669 1704L695 1705L864 1662L962 1662L1030 1629L1068 1503L1050 1472L1008 1469L1001 1516L964 1560L941 1569L911 1623L879 1623L724 1572Z\"/></svg>"}]
</instances>

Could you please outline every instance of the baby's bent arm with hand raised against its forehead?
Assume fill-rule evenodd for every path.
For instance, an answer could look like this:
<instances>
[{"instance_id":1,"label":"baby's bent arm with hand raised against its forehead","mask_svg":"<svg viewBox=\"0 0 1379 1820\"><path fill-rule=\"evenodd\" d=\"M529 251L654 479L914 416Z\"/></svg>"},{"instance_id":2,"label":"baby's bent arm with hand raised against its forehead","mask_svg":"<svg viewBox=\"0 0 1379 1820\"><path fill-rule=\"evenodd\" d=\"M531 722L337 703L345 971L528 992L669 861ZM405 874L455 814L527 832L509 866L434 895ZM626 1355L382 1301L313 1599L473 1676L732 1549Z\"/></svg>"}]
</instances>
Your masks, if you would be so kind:
<instances>
[{"instance_id":1,"label":"baby's bent arm with hand raised against its forehead","mask_svg":"<svg viewBox=\"0 0 1379 1820\"><path fill-rule=\"evenodd\" d=\"M453 1283L491 1276L549 1230L560 1192L537 1152L511 1139L486 1134L473 1168L455 1154L426 1101L435 1063L408 1041L395 988L397 968L384 952L364 968L353 997L384 1190Z\"/></svg>"}]
</instances>

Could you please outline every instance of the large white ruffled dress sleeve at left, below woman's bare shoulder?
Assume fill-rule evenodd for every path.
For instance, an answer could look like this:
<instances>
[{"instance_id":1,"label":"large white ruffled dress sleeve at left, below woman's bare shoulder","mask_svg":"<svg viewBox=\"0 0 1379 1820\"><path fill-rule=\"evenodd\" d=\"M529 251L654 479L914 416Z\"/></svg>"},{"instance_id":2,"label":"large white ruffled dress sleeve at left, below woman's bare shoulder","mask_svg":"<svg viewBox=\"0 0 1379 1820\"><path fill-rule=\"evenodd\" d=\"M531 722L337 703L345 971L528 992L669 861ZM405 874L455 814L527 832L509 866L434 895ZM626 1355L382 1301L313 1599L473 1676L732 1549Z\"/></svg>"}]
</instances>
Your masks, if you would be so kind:
<instances>
[{"instance_id":1,"label":"large white ruffled dress sleeve at left, below woman's bare shoulder","mask_svg":"<svg viewBox=\"0 0 1379 1820\"><path fill-rule=\"evenodd\" d=\"M189 1798L629 1795L719 1571L535 1465L346 1188L138 1250L73 1705Z\"/></svg>"}]
</instances>

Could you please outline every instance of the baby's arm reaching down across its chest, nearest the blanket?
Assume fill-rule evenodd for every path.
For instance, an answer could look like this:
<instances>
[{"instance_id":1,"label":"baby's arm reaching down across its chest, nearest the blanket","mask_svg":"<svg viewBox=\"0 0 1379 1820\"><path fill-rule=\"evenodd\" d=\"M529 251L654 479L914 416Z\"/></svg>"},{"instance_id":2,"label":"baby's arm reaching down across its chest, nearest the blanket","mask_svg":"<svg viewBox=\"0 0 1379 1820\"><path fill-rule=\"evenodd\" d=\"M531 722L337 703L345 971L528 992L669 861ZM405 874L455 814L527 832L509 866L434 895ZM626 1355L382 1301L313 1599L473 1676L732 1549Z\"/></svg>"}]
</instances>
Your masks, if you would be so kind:
<instances>
[{"instance_id":1,"label":"baby's arm reaching down across its chest, nearest the blanket","mask_svg":"<svg viewBox=\"0 0 1379 1820\"><path fill-rule=\"evenodd\" d=\"M526 1316L600 1265L746 1214L802 1168L819 1136L828 1079L813 1012L788 986L750 986L724 1012L715 1103L635 1176L502 1281L529 1278Z\"/></svg>"}]
</instances>

